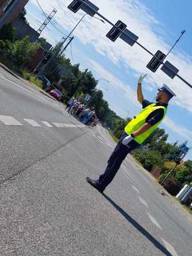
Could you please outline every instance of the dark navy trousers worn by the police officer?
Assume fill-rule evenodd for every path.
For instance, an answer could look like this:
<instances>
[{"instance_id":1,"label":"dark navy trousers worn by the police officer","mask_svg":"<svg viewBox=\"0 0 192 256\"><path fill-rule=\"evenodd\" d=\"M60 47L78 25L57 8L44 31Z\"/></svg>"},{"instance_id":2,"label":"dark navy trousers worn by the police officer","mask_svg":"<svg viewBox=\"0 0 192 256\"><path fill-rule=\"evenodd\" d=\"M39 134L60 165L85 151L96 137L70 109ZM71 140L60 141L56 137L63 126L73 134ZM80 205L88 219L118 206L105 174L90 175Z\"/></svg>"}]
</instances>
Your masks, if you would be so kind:
<instances>
[{"instance_id":1,"label":"dark navy trousers worn by the police officer","mask_svg":"<svg viewBox=\"0 0 192 256\"><path fill-rule=\"evenodd\" d=\"M126 136L127 134L124 134L120 138L120 141L118 142L115 149L113 150L113 153L109 157L108 166L106 167L105 172L100 175L99 180L97 180L97 184L100 186L100 188L105 189L106 186L111 183L127 154L140 146L140 144L138 144L134 140L129 143L128 147L123 145L122 140L124 140Z\"/></svg>"}]
</instances>

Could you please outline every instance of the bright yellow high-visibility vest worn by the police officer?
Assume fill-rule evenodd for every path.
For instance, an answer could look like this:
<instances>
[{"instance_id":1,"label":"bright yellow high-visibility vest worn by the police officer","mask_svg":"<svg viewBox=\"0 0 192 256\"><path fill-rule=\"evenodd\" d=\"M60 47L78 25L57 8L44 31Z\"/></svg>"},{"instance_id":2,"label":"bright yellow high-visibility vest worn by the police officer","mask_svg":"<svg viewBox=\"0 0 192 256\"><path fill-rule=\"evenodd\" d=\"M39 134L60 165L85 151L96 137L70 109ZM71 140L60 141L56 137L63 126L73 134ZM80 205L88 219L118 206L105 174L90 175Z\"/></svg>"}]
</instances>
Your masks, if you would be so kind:
<instances>
[{"instance_id":1,"label":"bright yellow high-visibility vest worn by the police officer","mask_svg":"<svg viewBox=\"0 0 192 256\"><path fill-rule=\"evenodd\" d=\"M165 116L167 109L164 106L156 106L156 103L150 104L146 108L144 108L143 111L141 111L135 118L133 118L131 120L131 122L129 122L129 124L127 124L125 126L125 132L128 135L130 135L132 132L138 131L138 129L140 129L140 127L142 125L146 124L147 116L150 115L150 113L152 113L153 111L155 111L156 109L159 109L159 108L163 108L164 116ZM163 116L163 118L164 118L164 116ZM138 142L139 144L143 143L143 141L145 141L148 138L148 136L163 121L163 118L157 124L152 125L152 127L150 127L146 132L143 132L142 134L136 136L134 138L134 140L136 142Z\"/></svg>"}]
</instances>

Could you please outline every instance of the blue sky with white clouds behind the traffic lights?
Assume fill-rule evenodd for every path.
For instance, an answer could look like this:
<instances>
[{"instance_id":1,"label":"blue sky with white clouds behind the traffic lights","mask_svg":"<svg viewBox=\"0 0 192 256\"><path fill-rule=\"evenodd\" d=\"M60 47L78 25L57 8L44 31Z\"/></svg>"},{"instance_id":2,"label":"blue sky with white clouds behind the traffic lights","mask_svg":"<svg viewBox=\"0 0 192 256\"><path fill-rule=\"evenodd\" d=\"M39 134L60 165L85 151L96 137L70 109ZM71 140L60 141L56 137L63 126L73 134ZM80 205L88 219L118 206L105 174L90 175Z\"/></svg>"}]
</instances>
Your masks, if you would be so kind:
<instances>
[{"instance_id":1,"label":"blue sky with white clouds behind the traffic lights","mask_svg":"<svg viewBox=\"0 0 192 256\"><path fill-rule=\"evenodd\" d=\"M53 8L58 12L54 22L64 35L68 35L84 12L73 13L67 6L72 0L38 0L45 13L51 13ZM122 20L127 29L139 36L138 42L147 47L150 52L157 50L165 54L170 50L180 32L186 33L170 52L167 60L179 69L179 75L189 83L192 74L192 37L191 37L191 0L92 0L98 6L99 13L113 23ZM36 0L26 5L29 24L38 29L45 17L42 15ZM97 16L95 16L97 17ZM168 114L161 124L169 134L168 142L188 140L192 147L192 89L175 77L171 79L161 71L156 73L148 70L147 63L151 56L140 46L132 47L118 38L111 42L106 37L111 25L105 24L94 17L86 15L72 34L74 40L67 48L65 56L72 63L80 63L80 69L88 68L99 83L97 88L103 91L104 99L109 108L122 117L132 117L141 111L141 105L136 99L136 87L140 74L148 73L142 83L144 98L153 101L157 88L166 83L175 92L168 106ZM60 42L63 34L51 24L42 32L52 45ZM107 81L106 81L107 80ZM192 159L192 149L186 159Z\"/></svg>"}]
</instances>

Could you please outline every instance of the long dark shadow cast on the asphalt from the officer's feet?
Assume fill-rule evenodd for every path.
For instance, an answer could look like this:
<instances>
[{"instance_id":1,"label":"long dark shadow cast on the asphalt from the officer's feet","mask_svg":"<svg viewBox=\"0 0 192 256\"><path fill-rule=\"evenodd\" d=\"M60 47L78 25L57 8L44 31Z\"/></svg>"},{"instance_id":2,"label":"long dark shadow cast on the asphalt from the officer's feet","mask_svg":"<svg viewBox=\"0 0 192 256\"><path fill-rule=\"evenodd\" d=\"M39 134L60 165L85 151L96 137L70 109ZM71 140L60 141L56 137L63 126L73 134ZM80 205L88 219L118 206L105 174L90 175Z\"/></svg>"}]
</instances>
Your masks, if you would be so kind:
<instances>
[{"instance_id":1,"label":"long dark shadow cast on the asphalt from the officer's feet","mask_svg":"<svg viewBox=\"0 0 192 256\"><path fill-rule=\"evenodd\" d=\"M140 231L141 234L143 234L143 236L145 236L152 244L154 244L154 246L156 246L157 249L159 249L161 252L163 252L164 255L173 256L172 253L168 252L168 250L166 250L166 248L161 243L159 243L153 236L151 236L147 232L147 230L145 230L145 228L141 227L141 225L139 223L137 223L135 220L133 220L131 218L131 216L129 216L129 214L127 214L127 212L124 211L124 209L122 209L120 206L115 204L115 202L113 202L113 200L111 198L109 198L107 195L105 195L105 194L102 194L102 195L117 209L117 211L119 211L125 217L126 220L129 221L129 223L131 223L131 225L134 228L136 228L138 231Z\"/></svg>"}]
</instances>

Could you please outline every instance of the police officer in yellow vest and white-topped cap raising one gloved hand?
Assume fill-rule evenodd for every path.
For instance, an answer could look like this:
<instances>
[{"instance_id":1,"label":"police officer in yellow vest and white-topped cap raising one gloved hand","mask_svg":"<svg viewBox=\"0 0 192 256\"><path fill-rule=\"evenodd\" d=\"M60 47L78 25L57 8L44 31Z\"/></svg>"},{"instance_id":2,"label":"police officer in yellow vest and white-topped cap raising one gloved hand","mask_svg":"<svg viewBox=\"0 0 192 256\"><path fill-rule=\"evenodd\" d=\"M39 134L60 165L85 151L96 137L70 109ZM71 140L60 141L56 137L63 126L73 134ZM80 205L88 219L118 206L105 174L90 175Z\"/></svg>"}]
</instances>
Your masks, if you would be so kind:
<instances>
[{"instance_id":1,"label":"police officer in yellow vest and white-topped cap raising one gloved hand","mask_svg":"<svg viewBox=\"0 0 192 256\"><path fill-rule=\"evenodd\" d=\"M140 147L141 143L143 143L163 121L169 100L172 99L173 96L176 96L166 84L163 84L163 86L158 89L159 92L156 96L156 103L145 100L141 89L141 83L145 76L147 76L147 74L140 76L137 89L138 101L142 104L143 110L137 116L134 116L131 122L125 126L125 134L120 138L115 150L109 157L105 172L100 175L97 180L92 180L89 177L86 178L87 182L90 183L93 188L100 191L100 193L102 193L113 180L127 154L135 148Z\"/></svg>"}]
</instances>

